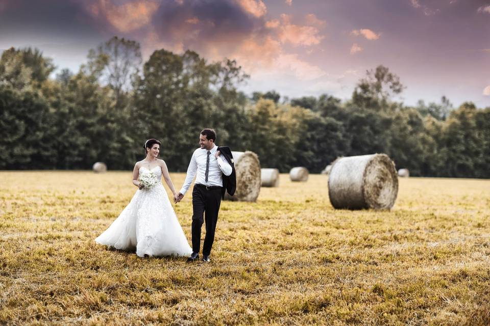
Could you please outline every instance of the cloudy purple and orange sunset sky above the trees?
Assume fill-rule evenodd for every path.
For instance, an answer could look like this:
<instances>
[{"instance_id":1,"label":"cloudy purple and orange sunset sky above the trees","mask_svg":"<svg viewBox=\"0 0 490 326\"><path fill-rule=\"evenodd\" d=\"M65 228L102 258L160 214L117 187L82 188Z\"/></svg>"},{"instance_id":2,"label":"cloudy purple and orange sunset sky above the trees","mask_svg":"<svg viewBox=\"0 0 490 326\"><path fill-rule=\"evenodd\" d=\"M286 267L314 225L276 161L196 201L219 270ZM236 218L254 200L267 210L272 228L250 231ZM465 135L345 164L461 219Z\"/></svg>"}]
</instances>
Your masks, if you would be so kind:
<instances>
[{"instance_id":1,"label":"cloudy purple and orange sunset sky above the trees","mask_svg":"<svg viewBox=\"0 0 490 326\"><path fill-rule=\"evenodd\" d=\"M0 50L36 47L76 72L112 36L237 60L240 89L351 97L384 65L420 99L490 106L490 0L0 0Z\"/></svg>"}]
</instances>

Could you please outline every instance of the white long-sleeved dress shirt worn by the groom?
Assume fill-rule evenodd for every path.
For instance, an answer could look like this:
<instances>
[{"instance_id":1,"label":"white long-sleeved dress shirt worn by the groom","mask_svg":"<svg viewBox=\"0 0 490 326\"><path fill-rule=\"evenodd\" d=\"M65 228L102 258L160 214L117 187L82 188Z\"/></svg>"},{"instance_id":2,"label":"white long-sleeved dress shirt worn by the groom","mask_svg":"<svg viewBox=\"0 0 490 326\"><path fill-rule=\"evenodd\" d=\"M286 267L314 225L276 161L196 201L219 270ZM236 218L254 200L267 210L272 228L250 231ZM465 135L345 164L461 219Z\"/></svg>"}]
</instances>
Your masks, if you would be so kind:
<instances>
[{"instance_id":1,"label":"white long-sleeved dress shirt worn by the groom","mask_svg":"<svg viewBox=\"0 0 490 326\"><path fill-rule=\"evenodd\" d=\"M223 186L222 174L230 175L233 171L231 165L228 163L223 154L220 154L218 158L214 156L218 147L214 147L210 150L209 154L209 172L208 172L208 182L206 182L206 160L207 160L207 149L198 148L192 154L190 159L189 167L187 168L187 176L185 177L184 185L180 189L180 193L185 195L189 190L192 180L195 178L195 183L201 183L209 186ZM196 176L197 174L197 176Z\"/></svg>"}]
</instances>

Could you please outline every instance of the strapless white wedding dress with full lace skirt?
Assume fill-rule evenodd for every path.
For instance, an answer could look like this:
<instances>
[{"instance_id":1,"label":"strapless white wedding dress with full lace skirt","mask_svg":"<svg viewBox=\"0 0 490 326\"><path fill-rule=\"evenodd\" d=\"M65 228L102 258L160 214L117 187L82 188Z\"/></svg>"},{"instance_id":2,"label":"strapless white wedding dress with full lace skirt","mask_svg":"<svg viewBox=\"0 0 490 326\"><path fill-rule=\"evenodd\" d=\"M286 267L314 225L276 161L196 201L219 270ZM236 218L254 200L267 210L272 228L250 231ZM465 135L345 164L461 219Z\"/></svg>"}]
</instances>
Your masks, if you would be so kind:
<instances>
[{"instance_id":1,"label":"strapless white wedding dress with full lace skirt","mask_svg":"<svg viewBox=\"0 0 490 326\"><path fill-rule=\"evenodd\" d=\"M151 171L158 180L162 179L159 166L152 170L139 169L140 174ZM125 251L136 249L139 257L188 256L192 253L161 182L149 189L138 189L128 206L95 242Z\"/></svg>"}]
</instances>

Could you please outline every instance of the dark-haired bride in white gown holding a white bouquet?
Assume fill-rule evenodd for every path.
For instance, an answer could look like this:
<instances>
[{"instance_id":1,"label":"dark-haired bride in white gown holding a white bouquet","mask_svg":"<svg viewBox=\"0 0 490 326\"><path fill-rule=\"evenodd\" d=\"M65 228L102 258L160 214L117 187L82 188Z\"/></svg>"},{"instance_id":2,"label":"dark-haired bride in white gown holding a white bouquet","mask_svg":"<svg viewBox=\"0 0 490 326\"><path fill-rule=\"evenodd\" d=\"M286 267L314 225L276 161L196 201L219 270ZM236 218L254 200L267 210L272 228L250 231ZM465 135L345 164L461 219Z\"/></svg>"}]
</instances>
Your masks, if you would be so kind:
<instances>
[{"instance_id":1,"label":"dark-haired bride in white gown holding a white bouquet","mask_svg":"<svg viewBox=\"0 0 490 326\"><path fill-rule=\"evenodd\" d=\"M139 257L188 256L192 253L161 182L163 176L177 203L178 194L167 166L157 158L160 145L156 139L144 143L146 158L136 162L133 170L133 184L139 189L95 242L120 250L136 249ZM156 184L151 185L148 180Z\"/></svg>"}]
</instances>

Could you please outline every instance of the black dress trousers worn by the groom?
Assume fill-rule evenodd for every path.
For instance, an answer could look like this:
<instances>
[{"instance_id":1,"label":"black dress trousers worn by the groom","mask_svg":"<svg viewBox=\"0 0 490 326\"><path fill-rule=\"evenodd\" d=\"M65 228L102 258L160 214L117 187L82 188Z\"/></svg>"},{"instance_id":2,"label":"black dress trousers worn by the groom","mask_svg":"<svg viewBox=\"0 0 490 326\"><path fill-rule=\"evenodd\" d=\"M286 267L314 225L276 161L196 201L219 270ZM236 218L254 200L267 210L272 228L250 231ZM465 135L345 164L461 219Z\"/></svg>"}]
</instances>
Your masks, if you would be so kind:
<instances>
[{"instance_id":1,"label":"black dress trousers worn by the groom","mask_svg":"<svg viewBox=\"0 0 490 326\"><path fill-rule=\"evenodd\" d=\"M199 253L201 249L201 227L206 222L203 255L211 253L214 242L214 230L218 221L219 205L221 204L222 187L206 187L194 184L192 190L192 251Z\"/></svg>"}]
</instances>

